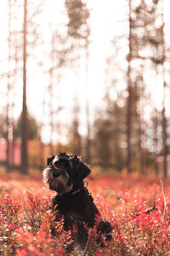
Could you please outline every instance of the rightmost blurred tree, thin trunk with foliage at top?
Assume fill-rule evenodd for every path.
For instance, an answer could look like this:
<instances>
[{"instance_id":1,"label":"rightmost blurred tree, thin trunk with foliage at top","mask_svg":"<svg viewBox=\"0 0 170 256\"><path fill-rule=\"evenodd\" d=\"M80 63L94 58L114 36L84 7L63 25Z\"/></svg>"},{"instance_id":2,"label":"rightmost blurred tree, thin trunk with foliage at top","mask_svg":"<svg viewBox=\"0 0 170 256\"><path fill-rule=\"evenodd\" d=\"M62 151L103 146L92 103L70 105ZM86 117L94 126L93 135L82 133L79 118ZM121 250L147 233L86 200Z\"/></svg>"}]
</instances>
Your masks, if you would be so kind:
<instances>
[{"instance_id":1,"label":"rightmost blurred tree, thin trunk with foliage at top","mask_svg":"<svg viewBox=\"0 0 170 256\"><path fill-rule=\"evenodd\" d=\"M166 62L167 62L167 45L165 42L165 23L164 23L164 9L163 0L152 1L152 4L146 5L148 12L148 20L145 29L145 46L150 47L150 55L148 56L152 65L156 68L156 75L162 77L162 110L161 110L161 134L163 155L163 173L167 177L167 116L166 116L166 95L167 95L167 81L166 81ZM159 20L159 25L157 23ZM160 67L161 66L161 73ZM155 122L156 124L156 122ZM155 152L157 154L157 152Z\"/></svg>"}]
</instances>

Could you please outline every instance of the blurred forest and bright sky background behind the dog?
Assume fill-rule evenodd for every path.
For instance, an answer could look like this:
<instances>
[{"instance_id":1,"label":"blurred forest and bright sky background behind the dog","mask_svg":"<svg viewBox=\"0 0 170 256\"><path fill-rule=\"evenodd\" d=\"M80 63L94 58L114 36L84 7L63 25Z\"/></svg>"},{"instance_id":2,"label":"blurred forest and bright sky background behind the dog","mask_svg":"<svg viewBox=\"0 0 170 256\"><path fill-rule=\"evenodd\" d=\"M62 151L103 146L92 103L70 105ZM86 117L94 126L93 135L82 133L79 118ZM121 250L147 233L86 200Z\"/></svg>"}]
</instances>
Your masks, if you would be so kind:
<instances>
[{"instance_id":1,"label":"blurred forest and bright sky background behind the dog","mask_svg":"<svg viewBox=\"0 0 170 256\"><path fill-rule=\"evenodd\" d=\"M1 0L0 173L50 154L170 177L169 0Z\"/></svg>"}]
</instances>

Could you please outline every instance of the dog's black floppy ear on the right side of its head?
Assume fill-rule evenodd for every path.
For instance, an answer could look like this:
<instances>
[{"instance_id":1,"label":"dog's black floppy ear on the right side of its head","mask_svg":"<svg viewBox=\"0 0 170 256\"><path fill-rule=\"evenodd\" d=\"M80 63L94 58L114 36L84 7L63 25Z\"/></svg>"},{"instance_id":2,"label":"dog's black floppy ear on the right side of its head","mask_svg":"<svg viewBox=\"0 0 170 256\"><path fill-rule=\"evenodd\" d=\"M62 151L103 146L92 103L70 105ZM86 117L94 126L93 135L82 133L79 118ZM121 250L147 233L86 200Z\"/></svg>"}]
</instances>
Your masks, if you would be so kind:
<instances>
[{"instance_id":1,"label":"dog's black floppy ear on the right side of its head","mask_svg":"<svg viewBox=\"0 0 170 256\"><path fill-rule=\"evenodd\" d=\"M77 155L74 155L73 162L75 166L76 176L79 180L83 180L90 173L90 168L80 160Z\"/></svg>"}]
</instances>

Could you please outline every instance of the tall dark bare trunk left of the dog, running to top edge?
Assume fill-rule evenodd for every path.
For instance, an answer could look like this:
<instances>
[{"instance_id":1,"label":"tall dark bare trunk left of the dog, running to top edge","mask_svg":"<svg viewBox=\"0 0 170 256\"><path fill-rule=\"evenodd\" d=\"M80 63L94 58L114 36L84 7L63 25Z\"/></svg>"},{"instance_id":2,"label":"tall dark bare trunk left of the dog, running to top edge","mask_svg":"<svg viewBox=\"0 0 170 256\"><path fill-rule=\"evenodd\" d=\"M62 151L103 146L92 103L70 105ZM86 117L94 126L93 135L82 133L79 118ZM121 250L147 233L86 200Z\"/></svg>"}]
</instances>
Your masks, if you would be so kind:
<instances>
[{"instance_id":1,"label":"tall dark bare trunk left of the dog, running to top edge","mask_svg":"<svg viewBox=\"0 0 170 256\"><path fill-rule=\"evenodd\" d=\"M21 122L21 172L27 173L27 106L26 106L26 23L27 23L27 0L24 0L24 23L23 23L23 102Z\"/></svg>"}]
</instances>

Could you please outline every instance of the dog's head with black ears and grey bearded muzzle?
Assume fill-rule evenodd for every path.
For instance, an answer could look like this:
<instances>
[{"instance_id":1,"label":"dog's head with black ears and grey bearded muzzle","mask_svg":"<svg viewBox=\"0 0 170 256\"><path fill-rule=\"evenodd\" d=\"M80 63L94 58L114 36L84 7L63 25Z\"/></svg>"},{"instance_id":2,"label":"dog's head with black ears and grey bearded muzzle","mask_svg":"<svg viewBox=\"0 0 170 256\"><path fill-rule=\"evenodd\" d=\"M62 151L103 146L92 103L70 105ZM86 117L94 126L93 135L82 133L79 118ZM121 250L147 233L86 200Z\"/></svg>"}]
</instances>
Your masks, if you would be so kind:
<instances>
[{"instance_id":1,"label":"dog's head with black ears and grey bearded muzzle","mask_svg":"<svg viewBox=\"0 0 170 256\"><path fill-rule=\"evenodd\" d=\"M82 188L83 179L90 173L89 167L73 154L60 153L49 157L47 165L43 171L43 182L59 194Z\"/></svg>"}]
</instances>

